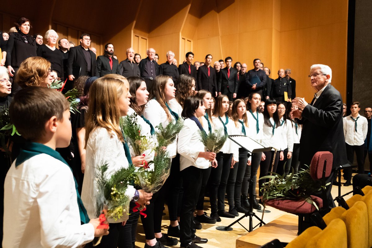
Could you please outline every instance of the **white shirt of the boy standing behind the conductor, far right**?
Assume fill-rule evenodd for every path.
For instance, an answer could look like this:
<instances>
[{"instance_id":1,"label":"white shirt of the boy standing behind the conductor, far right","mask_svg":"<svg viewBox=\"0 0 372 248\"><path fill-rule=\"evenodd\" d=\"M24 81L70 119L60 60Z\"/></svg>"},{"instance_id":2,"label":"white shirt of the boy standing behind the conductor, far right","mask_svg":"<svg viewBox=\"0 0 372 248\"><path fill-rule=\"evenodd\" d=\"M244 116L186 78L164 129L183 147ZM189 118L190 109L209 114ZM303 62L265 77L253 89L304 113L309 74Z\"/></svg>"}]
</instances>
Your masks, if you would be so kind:
<instances>
[{"instance_id":1,"label":"white shirt of the boy standing behind the conductor, far right","mask_svg":"<svg viewBox=\"0 0 372 248\"><path fill-rule=\"evenodd\" d=\"M349 145L363 145L367 137L368 132L368 121L367 118L361 115L357 115L358 120L355 131L355 120L351 119L352 115L342 118L344 123L344 136L345 142ZM356 118L357 118L356 117ZM354 118L354 119L356 119Z\"/></svg>"}]
</instances>

